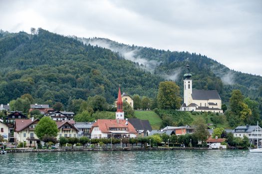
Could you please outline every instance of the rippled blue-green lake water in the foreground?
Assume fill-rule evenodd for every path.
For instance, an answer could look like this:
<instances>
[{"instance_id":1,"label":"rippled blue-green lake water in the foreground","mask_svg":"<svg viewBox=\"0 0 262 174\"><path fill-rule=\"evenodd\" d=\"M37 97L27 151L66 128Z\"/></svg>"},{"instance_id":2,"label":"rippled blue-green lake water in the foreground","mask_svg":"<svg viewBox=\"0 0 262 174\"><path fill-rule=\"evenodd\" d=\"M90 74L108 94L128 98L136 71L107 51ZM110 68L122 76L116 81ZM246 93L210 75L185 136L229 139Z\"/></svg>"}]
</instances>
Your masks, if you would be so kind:
<instances>
[{"instance_id":1,"label":"rippled blue-green lake water in the foreground","mask_svg":"<svg viewBox=\"0 0 262 174\"><path fill-rule=\"evenodd\" d=\"M262 153L231 150L0 155L0 174L262 174Z\"/></svg>"}]
</instances>

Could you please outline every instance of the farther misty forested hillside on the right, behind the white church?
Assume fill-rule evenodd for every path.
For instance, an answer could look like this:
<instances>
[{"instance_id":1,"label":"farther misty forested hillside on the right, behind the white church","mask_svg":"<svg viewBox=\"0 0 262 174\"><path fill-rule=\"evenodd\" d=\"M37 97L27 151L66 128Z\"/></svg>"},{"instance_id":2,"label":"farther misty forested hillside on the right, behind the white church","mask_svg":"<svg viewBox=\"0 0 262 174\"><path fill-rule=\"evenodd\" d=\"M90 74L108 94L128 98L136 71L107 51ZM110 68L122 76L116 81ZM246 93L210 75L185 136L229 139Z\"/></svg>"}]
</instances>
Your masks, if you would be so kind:
<instances>
[{"instance_id":1,"label":"farther misty forested hillside on the right, behind the white church","mask_svg":"<svg viewBox=\"0 0 262 174\"><path fill-rule=\"evenodd\" d=\"M217 61L196 53L157 50L154 48L120 44L104 38L82 38L86 44L108 48L137 66L167 80L174 80L181 89L185 65L190 65L193 87L217 89L223 102L228 102L233 89L240 89L245 96L257 98L262 77L230 70ZM176 49L176 48L174 48ZM187 61L188 60L188 61ZM262 90L262 89L261 89ZM258 99L258 98L257 98Z\"/></svg>"}]
</instances>

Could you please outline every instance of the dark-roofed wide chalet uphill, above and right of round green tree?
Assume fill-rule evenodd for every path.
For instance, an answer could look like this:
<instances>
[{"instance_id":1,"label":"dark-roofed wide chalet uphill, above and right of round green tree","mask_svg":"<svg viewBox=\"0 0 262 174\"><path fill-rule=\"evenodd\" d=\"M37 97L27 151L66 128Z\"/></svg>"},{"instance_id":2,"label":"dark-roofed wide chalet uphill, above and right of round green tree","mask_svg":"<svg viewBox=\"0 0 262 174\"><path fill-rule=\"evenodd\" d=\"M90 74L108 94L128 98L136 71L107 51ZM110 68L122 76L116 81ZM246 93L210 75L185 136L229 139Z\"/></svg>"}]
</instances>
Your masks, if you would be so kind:
<instances>
[{"instance_id":1,"label":"dark-roofed wide chalet uphill, above and right of round green tree","mask_svg":"<svg viewBox=\"0 0 262 174\"><path fill-rule=\"evenodd\" d=\"M67 111L48 111L44 116L49 116L54 121L69 121L73 120L74 112Z\"/></svg>"}]
</instances>

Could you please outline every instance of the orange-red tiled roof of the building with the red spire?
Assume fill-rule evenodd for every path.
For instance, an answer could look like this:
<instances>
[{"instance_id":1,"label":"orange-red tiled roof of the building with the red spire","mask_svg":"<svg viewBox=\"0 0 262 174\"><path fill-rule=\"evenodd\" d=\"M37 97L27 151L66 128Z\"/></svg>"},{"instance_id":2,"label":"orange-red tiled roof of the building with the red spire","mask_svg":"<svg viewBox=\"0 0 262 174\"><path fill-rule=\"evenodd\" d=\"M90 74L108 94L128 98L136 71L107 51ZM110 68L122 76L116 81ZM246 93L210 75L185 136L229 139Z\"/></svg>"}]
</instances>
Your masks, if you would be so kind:
<instances>
[{"instance_id":1,"label":"orange-red tiled roof of the building with the red spire","mask_svg":"<svg viewBox=\"0 0 262 174\"><path fill-rule=\"evenodd\" d=\"M117 123L116 119L98 119L93 125L90 130L92 132L94 127L99 127L102 133L110 133L109 128L128 128L129 133L137 133L134 126L128 122L128 125L125 124L126 120L119 120Z\"/></svg>"}]
</instances>

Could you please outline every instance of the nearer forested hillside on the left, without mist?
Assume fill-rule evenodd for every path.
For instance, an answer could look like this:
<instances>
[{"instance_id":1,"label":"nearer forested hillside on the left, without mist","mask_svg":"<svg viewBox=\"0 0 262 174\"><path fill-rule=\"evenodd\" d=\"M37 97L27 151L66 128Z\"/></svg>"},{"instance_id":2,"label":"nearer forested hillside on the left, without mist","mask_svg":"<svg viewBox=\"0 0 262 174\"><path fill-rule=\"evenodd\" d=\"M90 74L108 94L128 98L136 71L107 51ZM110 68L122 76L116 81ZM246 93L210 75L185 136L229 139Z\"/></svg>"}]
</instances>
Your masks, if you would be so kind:
<instances>
[{"instance_id":1,"label":"nearer forested hillside on the left, without mist","mask_svg":"<svg viewBox=\"0 0 262 174\"><path fill-rule=\"evenodd\" d=\"M67 104L69 97L102 95L107 102L123 92L154 97L162 78L138 69L112 51L38 29L0 35L0 103L24 93L35 102Z\"/></svg>"}]
</instances>

